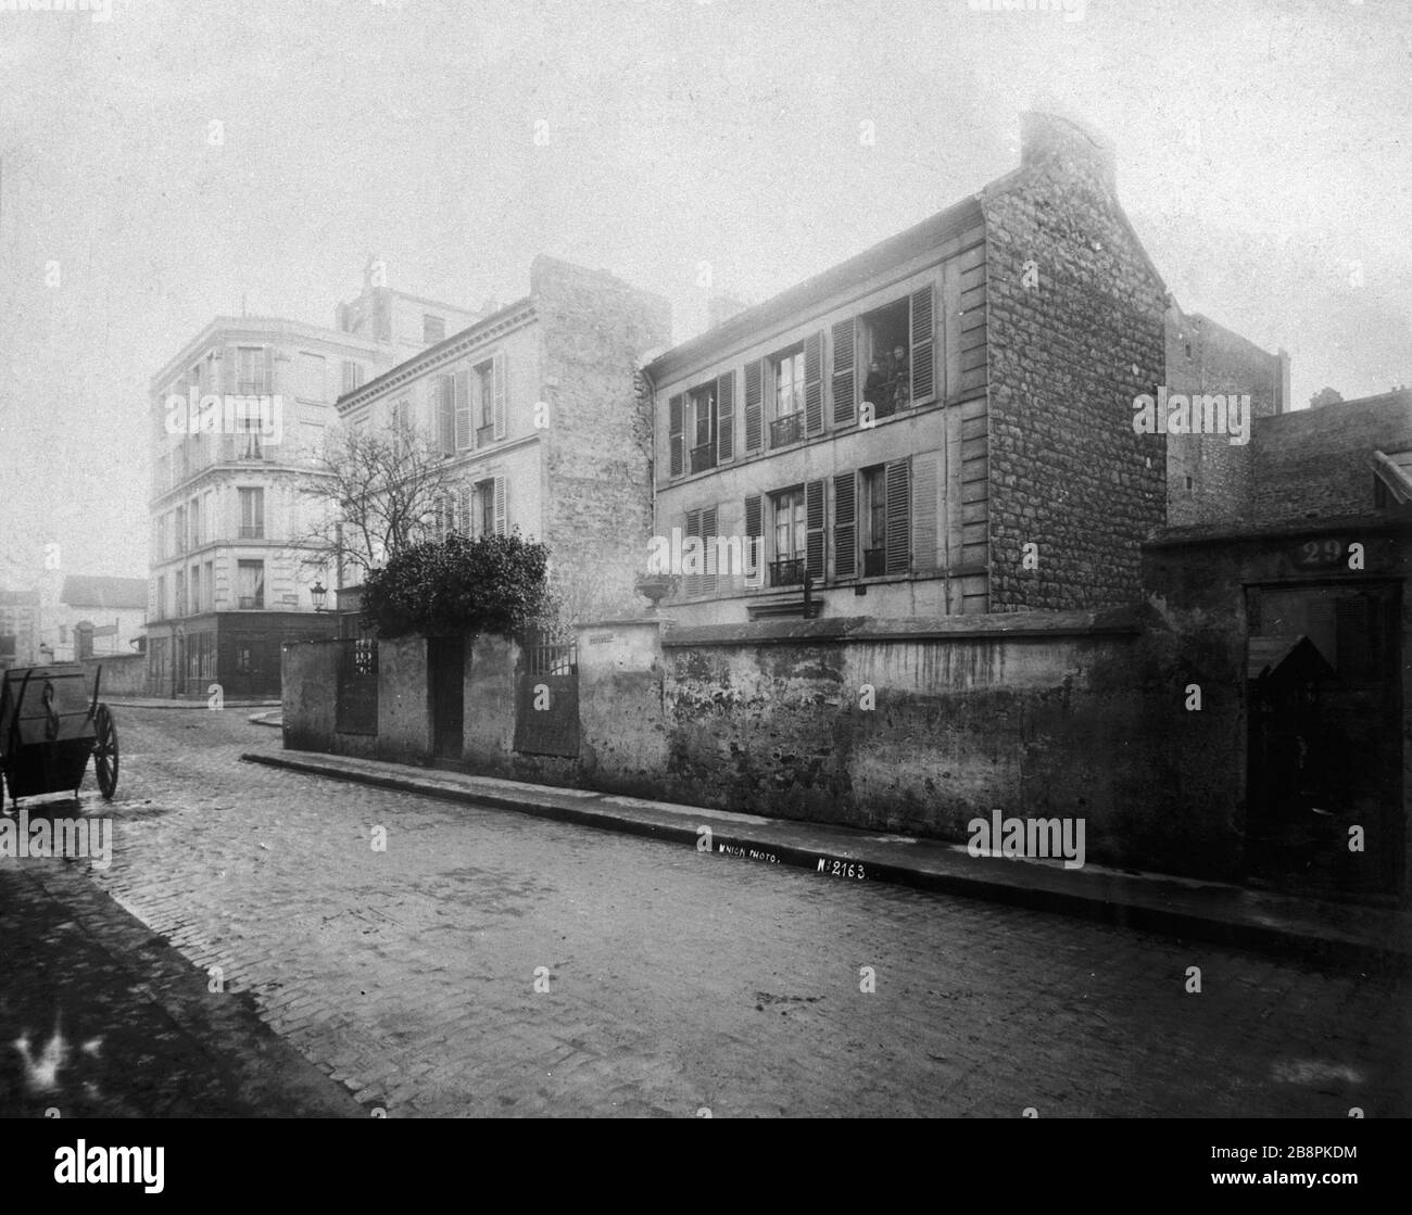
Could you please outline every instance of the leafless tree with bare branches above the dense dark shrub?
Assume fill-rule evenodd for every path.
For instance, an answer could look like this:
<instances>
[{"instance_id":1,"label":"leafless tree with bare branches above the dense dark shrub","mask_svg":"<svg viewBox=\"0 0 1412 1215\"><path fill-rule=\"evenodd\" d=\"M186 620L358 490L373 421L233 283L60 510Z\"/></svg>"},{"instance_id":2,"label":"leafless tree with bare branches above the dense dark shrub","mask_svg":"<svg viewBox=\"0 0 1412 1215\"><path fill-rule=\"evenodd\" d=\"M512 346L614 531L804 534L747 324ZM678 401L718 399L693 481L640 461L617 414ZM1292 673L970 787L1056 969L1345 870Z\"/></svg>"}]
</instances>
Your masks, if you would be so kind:
<instances>
[{"instance_id":1,"label":"leafless tree with bare branches above the dense dark shrub","mask_svg":"<svg viewBox=\"0 0 1412 1215\"><path fill-rule=\"evenodd\" d=\"M345 581L426 539L450 511L449 459L404 419L381 429L340 428L326 439L299 490L315 514L295 546L305 566L336 567Z\"/></svg>"}]
</instances>

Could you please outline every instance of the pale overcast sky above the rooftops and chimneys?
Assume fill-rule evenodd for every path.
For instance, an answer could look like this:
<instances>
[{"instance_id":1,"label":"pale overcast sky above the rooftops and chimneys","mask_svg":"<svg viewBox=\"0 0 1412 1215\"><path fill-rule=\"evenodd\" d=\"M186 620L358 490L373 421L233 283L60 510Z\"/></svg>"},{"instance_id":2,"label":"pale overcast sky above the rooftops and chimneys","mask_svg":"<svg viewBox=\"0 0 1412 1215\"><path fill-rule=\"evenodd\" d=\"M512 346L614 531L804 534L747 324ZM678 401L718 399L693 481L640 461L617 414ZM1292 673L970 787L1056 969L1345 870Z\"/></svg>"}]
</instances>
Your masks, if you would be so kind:
<instances>
[{"instance_id":1,"label":"pale overcast sky above the rooftops and chimneys","mask_svg":"<svg viewBox=\"0 0 1412 1215\"><path fill-rule=\"evenodd\" d=\"M332 326L376 253L394 288L508 302L545 251L669 296L685 339L698 262L762 301L1008 172L1034 106L1115 141L1168 286L1286 347L1298 405L1387 391L1409 35L1404 0L0 11L0 584L45 542L145 576L148 380L241 301Z\"/></svg>"}]
</instances>

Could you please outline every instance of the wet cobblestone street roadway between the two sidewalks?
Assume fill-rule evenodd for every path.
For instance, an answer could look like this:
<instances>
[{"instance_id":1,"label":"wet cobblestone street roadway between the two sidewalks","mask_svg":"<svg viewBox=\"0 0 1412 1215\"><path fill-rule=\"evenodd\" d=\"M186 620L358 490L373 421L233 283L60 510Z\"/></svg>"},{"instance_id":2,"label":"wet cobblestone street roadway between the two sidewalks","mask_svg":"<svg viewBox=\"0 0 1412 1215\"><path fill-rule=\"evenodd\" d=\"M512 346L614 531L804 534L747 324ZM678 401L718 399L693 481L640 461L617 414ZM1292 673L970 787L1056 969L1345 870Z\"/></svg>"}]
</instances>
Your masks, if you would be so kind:
<instances>
[{"instance_id":1,"label":"wet cobblestone street roadway between the two sidewalks","mask_svg":"<svg viewBox=\"0 0 1412 1215\"><path fill-rule=\"evenodd\" d=\"M239 711L117 717L88 881L370 1113L1409 1112L1399 979L243 763L278 734Z\"/></svg>"}]
</instances>

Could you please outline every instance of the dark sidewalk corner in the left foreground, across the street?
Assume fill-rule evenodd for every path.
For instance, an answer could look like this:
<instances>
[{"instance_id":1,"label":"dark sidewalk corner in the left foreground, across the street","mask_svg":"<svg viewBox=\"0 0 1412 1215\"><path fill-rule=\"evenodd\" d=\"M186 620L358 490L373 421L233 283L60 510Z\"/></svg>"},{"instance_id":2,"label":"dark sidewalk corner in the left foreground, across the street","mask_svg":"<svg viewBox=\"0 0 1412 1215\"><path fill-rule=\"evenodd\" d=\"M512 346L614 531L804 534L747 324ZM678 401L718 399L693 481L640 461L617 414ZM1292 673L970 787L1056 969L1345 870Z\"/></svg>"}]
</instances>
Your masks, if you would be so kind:
<instances>
[{"instance_id":1,"label":"dark sidewalk corner in the left foreground, across the street","mask_svg":"<svg viewBox=\"0 0 1412 1215\"><path fill-rule=\"evenodd\" d=\"M0 1116L367 1116L83 868L0 859Z\"/></svg>"}]
</instances>

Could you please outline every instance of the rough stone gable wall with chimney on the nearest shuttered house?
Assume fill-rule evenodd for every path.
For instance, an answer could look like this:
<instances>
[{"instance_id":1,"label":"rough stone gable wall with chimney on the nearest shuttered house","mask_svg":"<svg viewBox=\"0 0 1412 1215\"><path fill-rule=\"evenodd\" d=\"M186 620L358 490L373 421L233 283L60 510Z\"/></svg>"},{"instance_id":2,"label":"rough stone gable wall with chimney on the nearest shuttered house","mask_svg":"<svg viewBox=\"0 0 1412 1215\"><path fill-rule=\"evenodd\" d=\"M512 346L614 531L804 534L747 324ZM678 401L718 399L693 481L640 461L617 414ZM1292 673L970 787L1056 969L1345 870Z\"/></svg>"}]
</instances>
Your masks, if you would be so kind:
<instances>
[{"instance_id":1,"label":"rough stone gable wall with chimney on the nearest shuttered house","mask_svg":"<svg viewBox=\"0 0 1412 1215\"><path fill-rule=\"evenodd\" d=\"M1111 162L1052 121L984 202L991 611L1139 601L1138 546L1165 512L1165 436L1132 433L1132 398L1162 382L1165 292L1120 219Z\"/></svg>"}]
</instances>

